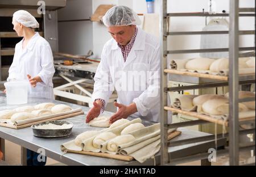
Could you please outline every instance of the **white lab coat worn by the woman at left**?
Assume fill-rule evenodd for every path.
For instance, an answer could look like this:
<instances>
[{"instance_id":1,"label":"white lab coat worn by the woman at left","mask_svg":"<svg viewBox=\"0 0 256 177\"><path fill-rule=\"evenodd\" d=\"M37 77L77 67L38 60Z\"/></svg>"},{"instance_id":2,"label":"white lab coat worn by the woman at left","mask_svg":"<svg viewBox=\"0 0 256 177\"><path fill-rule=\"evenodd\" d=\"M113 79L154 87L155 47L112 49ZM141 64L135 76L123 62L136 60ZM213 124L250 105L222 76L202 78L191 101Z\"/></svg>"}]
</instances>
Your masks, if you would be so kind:
<instances>
[{"instance_id":1,"label":"white lab coat worn by the woman at left","mask_svg":"<svg viewBox=\"0 0 256 177\"><path fill-rule=\"evenodd\" d=\"M28 41L25 49L22 49L23 40L15 46L13 63L9 69L7 81L12 79L28 81L27 74L31 77L38 75L43 82L36 83L36 87L30 86L28 95L54 99L52 77L55 69L49 43L38 32Z\"/></svg>"}]
</instances>

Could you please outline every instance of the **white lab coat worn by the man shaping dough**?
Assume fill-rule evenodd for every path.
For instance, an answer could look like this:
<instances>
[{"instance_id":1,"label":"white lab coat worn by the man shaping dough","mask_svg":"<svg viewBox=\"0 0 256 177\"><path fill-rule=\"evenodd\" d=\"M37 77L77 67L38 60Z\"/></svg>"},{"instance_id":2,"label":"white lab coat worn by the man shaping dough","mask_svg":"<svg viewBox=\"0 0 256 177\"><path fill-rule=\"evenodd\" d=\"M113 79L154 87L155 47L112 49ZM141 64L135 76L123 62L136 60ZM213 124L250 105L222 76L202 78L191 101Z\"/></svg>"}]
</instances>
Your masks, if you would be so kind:
<instances>
[{"instance_id":1,"label":"white lab coat worn by the man shaping dough","mask_svg":"<svg viewBox=\"0 0 256 177\"><path fill-rule=\"evenodd\" d=\"M139 71L139 75L134 71ZM148 73L146 79L138 83L133 79ZM94 76L92 98L104 99L108 103L113 90L117 90L118 103L126 106L134 102L138 112L131 117L145 120L160 120L160 53L158 40L138 27L138 33L126 62L121 49L114 39L109 40L102 50L101 62ZM133 78L134 76L134 78ZM132 78L132 79L131 79ZM143 85L145 88L131 89ZM126 88L126 89L123 89Z\"/></svg>"}]
</instances>

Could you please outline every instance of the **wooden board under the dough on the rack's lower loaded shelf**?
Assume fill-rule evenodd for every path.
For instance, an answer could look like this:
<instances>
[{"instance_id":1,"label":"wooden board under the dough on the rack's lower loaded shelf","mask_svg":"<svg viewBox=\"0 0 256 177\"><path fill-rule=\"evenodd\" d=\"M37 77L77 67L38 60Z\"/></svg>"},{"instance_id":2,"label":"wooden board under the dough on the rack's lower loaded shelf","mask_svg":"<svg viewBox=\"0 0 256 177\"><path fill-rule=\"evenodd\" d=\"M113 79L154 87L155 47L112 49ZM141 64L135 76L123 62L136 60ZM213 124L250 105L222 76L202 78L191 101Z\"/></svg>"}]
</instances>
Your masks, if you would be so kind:
<instances>
[{"instance_id":1,"label":"wooden board under the dough on the rack's lower loaded shelf","mask_svg":"<svg viewBox=\"0 0 256 177\"><path fill-rule=\"evenodd\" d=\"M207 116L207 115L203 115L201 113L191 112L191 111L182 111L181 109L172 108L172 107L168 107L168 106L165 106L164 109L166 111L172 111L172 112L181 113L183 115L196 117L197 119L206 120L206 121L209 121L211 123L225 125L226 127L229 126L228 121L224 121L224 120L220 120L220 119L215 119L213 117L210 117L210 116ZM243 119L239 119L240 122L242 122L242 121L249 121L249 120L255 120L255 117L246 117L246 118L243 118Z\"/></svg>"}]
</instances>

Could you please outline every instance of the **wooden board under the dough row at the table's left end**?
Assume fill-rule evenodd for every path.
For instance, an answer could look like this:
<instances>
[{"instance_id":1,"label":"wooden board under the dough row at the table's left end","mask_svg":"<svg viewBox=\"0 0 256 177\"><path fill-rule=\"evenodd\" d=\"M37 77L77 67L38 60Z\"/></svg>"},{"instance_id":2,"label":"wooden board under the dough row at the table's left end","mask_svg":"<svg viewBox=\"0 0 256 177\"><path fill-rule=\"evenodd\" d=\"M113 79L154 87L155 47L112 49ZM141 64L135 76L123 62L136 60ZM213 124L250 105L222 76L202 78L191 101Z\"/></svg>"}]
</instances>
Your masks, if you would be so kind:
<instances>
[{"instance_id":1,"label":"wooden board under the dough row at the table's left end","mask_svg":"<svg viewBox=\"0 0 256 177\"><path fill-rule=\"evenodd\" d=\"M7 128L13 128L13 129L20 129L20 128L30 127L31 125L35 125L35 124L44 123L46 121L60 120L60 119L65 119L68 117L73 117L73 116L78 116L78 115L83 115L83 114L84 114L84 112L80 111L80 112L70 113L68 115L63 115L63 116L58 116L58 117L52 117L52 118L45 119L45 120L35 121L34 123L28 123L28 124L24 124L24 125L10 125L10 124L6 124L6 123L0 123L0 126L7 127Z\"/></svg>"}]
</instances>

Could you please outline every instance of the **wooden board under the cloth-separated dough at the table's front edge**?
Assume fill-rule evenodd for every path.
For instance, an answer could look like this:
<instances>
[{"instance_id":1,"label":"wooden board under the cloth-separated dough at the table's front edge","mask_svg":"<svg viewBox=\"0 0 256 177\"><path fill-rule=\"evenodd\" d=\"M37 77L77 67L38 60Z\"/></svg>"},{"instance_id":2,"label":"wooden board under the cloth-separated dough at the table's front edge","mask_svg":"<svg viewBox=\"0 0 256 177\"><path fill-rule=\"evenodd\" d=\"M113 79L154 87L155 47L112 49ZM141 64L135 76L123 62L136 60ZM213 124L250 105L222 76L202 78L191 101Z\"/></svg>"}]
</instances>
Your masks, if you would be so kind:
<instances>
[{"instance_id":1,"label":"wooden board under the cloth-separated dough at the table's front edge","mask_svg":"<svg viewBox=\"0 0 256 177\"><path fill-rule=\"evenodd\" d=\"M171 140L172 138L175 138L176 136L179 136L181 134L181 131L175 130L174 132L168 134L168 140ZM77 153L77 154L85 154L85 155L93 155L97 157L105 157L105 158L111 158L111 159L117 159L121 161L132 161L134 158L129 155L119 155L119 154L108 154L108 153L94 153L89 151L75 151L75 150L68 150L69 153Z\"/></svg>"}]
</instances>

